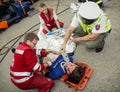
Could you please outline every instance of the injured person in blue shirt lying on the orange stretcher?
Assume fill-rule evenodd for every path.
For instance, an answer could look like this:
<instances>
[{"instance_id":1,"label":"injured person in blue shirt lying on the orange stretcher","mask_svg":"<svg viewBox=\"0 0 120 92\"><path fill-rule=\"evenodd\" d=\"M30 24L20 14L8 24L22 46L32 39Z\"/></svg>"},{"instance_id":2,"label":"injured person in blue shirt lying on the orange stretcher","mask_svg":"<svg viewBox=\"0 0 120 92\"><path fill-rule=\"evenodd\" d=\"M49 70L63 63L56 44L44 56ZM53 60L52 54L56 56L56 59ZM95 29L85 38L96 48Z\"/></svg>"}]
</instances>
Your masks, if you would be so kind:
<instances>
[{"instance_id":1,"label":"injured person in blue shirt lying on the orange stretcher","mask_svg":"<svg viewBox=\"0 0 120 92\"><path fill-rule=\"evenodd\" d=\"M49 72L45 75L55 80L60 79L64 74L68 74L68 80L78 84L84 75L85 69L75 64L72 56L68 55L69 62L66 62L59 52L49 51L52 53L49 53L43 60L43 62L51 63L51 66L48 68Z\"/></svg>"}]
</instances>

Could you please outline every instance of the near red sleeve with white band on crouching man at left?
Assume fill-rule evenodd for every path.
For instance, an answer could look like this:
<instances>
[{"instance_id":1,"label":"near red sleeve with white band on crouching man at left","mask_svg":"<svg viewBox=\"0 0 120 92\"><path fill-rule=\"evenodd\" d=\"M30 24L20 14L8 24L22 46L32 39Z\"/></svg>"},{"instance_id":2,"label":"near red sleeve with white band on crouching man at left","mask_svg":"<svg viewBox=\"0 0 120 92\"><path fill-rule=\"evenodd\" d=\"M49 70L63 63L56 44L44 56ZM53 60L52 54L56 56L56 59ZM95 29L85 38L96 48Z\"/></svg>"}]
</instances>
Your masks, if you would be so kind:
<instances>
[{"instance_id":1,"label":"near red sleeve with white band on crouching man at left","mask_svg":"<svg viewBox=\"0 0 120 92\"><path fill-rule=\"evenodd\" d=\"M42 71L45 67L43 64L39 64L36 53L32 50L26 50L24 52L25 63L29 70L34 72Z\"/></svg>"}]
</instances>

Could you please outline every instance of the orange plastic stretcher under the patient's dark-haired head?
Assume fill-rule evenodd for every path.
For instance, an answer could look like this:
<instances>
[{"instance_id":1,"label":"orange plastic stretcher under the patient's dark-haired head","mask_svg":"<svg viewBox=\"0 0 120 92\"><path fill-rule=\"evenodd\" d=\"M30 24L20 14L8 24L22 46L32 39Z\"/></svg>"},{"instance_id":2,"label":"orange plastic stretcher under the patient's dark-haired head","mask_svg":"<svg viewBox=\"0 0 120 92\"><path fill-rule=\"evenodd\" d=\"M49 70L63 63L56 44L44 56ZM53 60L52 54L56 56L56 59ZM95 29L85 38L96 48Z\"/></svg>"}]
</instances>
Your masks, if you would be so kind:
<instances>
[{"instance_id":1,"label":"orange plastic stretcher under the patient's dark-haired head","mask_svg":"<svg viewBox=\"0 0 120 92\"><path fill-rule=\"evenodd\" d=\"M65 84L67 84L68 87L74 87L75 90L84 90L84 88L87 85L87 82L88 82L89 78L91 77L91 75L93 73L93 68L91 68L90 66L88 66L87 64L84 64L84 63L78 63L78 62L76 62L75 64L77 64L79 66L82 66L82 68L85 69L85 73L84 73L82 79L79 81L79 83L78 84L74 84L74 83L68 81L67 80L67 78L68 78L67 74L64 74L60 78L60 80L62 82L64 82Z\"/></svg>"}]
</instances>

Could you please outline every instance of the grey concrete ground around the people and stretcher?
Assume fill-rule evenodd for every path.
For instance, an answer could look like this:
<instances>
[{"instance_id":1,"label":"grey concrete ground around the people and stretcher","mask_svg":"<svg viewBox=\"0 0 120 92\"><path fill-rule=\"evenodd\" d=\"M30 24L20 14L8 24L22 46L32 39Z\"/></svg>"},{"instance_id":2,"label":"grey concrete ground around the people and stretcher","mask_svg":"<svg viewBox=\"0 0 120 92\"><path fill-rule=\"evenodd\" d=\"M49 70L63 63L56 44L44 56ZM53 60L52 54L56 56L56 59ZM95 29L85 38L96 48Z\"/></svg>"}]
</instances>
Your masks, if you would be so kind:
<instances>
[{"instance_id":1,"label":"grey concrete ground around the people and stretcher","mask_svg":"<svg viewBox=\"0 0 120 92\"><path fill-rule=\"evenodd\" d=\"M56 8L57 0L39 0L33 6L38 7L39 2L45 2L50 7ZM71 2L77 0L60 0L57 12L69 7ZM93 67L94 72L83 91L78 92L120 92L120 2L119 0L110 0L105 3L105 10L109 14L112 23L112 32L106 38L104 49L100 53L88 51L84 44L79 44L74 61L81 61ZM65 28L70 24L73 14L67 10L59 15L59 18L65 23ZM26 30L39 23L38 14L27 17L21 22L10 26L7 30L0 33L0 48L11 39L23 34ZM39 25L34 29L39 28ZM20 39L18 42L20 42ZM13 42L7 45L10 47ZM18 44L18 43L17 43ZM16 44L15 44L16 46ZM2 59L4 55L0 55ZM13 54L9 52L0 63L0 92L37 92L36 89L23 91L15 87L9 76L9 65L12 62ZM52 92L74 92L73 88L68 88L64 83L57 80Z\"/></svg>"}]
</instances>

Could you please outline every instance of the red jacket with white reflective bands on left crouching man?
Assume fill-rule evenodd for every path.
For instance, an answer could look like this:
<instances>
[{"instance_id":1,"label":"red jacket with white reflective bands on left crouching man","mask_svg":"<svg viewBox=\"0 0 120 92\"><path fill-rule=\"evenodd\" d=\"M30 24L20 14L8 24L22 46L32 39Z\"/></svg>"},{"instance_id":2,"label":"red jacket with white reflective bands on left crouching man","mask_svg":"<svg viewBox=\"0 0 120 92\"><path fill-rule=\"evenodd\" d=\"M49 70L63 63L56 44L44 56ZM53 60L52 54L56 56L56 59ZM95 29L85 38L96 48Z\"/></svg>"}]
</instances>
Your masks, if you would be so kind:
<instances>
[{"instance_id":1,"label":"red jacket with white reflective bands on left crouching man","mask_svg":"<svg viewBox=\"0 0 120 92\"><path fill-rule=\"evenodd\" d=\"M12 82L17 84L29 83L34 73L42 69L44 69L44 65L38 63L36 50L32 49L24 42L16 48L14 60L10 66Z\"/></svg>"}]
</instances>

